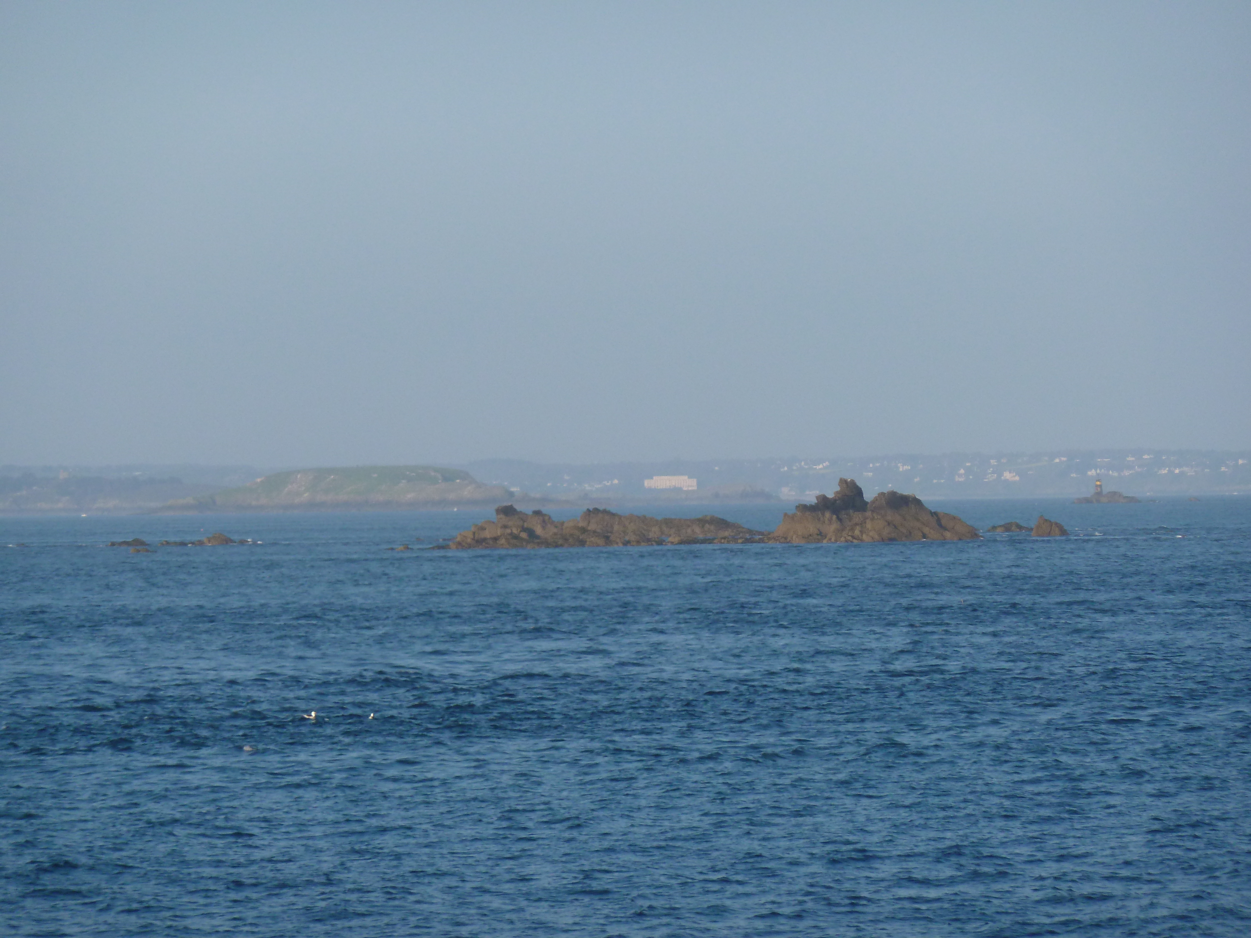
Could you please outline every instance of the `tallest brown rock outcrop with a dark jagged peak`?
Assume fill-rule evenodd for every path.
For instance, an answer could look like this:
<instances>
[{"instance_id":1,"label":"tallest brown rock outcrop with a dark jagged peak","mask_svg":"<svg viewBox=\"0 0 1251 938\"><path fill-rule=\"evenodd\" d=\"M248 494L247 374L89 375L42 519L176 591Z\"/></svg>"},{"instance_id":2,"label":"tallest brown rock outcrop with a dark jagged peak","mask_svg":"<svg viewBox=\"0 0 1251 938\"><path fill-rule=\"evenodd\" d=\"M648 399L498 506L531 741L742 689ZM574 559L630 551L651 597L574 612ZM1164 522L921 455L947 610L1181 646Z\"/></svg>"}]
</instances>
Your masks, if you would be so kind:
<instances>
[{"instance_id":1,"label":"tallest brown rock outcrop with a dark jagged peak","mask_svg":"<svg viewBox=\"0 0 1251 938\"><path fill-rule=\"evenodd\" d=\"M931 512L916 495L879 492L872 502L854 479L839 479L832 497L817 495L782 517L774 544L877 543L887 540L973 540L981 535L962 519Z\"/></svg>"}]
</instances>

